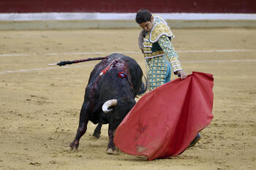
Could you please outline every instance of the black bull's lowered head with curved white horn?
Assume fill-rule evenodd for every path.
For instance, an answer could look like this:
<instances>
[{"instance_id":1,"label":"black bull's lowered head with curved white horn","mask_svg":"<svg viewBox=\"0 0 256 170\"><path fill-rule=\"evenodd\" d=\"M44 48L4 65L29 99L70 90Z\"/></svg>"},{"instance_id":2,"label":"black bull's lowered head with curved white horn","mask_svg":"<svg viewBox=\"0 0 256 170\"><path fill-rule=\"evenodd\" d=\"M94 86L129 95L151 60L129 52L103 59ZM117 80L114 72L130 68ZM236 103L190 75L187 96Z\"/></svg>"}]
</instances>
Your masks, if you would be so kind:
<instances>
[{"instance_id":1,"label":"black bull's lowered head with curved white horn","mask_svg":"<svg viewBox=\"0 0 256 170\"><path fill-rule=\"evenodd\" d=\"M118 125L135 104L135 99L127 97L105 101L102 105L102 111L109 115L108 121L113 130L116 130Z\"/></svg>"}]
</instances>

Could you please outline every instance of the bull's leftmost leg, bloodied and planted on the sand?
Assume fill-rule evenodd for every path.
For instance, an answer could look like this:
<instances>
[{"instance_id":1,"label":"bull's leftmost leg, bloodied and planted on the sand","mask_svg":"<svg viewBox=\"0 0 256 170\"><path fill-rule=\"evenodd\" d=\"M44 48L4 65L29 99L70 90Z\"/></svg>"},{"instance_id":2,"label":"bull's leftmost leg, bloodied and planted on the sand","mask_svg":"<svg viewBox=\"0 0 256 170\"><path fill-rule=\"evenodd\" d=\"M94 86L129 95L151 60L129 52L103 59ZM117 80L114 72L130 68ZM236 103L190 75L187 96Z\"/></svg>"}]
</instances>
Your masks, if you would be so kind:
<instances>
[{"instance_id":1,"label":"bull's leftmost leg, bloodied and planted on the sand","mask_svg":"<svg viewBox=\"0 0 256 170\"><path fill-rule=\"evenodd\" d=\"M78 150L79 140L86 133L87 124L89 122L89 113L87 112L86 104L83 104L83 107L80 111L80 118L79 118L79 126L77 134L75 135L75 139L69 145L69 150Z\"/></svg>"}]
</instances>

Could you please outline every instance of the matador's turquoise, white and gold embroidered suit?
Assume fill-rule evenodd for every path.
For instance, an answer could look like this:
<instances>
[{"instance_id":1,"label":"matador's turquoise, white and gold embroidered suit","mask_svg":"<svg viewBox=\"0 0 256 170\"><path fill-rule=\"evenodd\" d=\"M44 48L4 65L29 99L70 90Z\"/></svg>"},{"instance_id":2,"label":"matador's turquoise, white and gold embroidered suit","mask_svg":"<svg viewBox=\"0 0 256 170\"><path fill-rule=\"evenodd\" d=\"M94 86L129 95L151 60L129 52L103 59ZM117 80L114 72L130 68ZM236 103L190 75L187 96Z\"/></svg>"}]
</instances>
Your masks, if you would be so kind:
<instances>
[{"instance_id":1,"label":"matador's turquoise, white and gold embroidered suit","mask_svg":"<svg viewBox=\"0 0 256 170\"><path fill-rule=\"evenodd\" d=\"M170 81L170 66L174 73L182 70L171 42L173 38L174 35L165 20L156 15L151 31L140 32L139 46L143 49L148 65L149 90Z\"/></svg>"}]
</instances>

